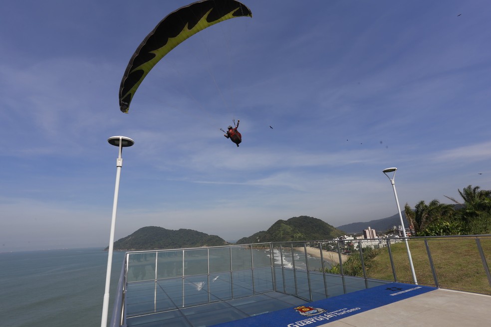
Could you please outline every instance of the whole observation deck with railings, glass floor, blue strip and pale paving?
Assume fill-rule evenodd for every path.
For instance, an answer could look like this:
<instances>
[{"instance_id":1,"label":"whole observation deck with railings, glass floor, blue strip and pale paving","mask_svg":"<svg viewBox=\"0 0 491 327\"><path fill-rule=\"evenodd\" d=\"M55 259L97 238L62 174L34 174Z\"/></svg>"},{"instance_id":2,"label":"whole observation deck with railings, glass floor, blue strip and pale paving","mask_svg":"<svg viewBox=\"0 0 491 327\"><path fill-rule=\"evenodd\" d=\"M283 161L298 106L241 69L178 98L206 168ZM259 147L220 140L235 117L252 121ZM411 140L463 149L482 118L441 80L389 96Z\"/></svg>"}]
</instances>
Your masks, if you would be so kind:
<instances>
[{"instance_id":1,"label":"whole observation deck with railings, glass floor, blue strip and pale paving","mask_svg":"<svg viewBox=\"0 0 491 327\"><path fill-rule=\"evenodd\" d=\"M367 240L366 244L362 244L364 240L354 241L358 244L352 247L355 250L349 257L358 256L361 276L348 275L351 263L342 256L345 244L341 241L127 252L110 326L491 324L491 277L487 264L491 254L482 246L486 242L487 249L489 237L471 238L470 243L483 262L481 269L473 273L488 279L484 294L441 289L447 277L439 274L439 263L434 262L431 248L436 247L432 242L444 239L411 238L413 246L417 246L414 242L427 246L425 269L433 272L431 283L419 285L398 277L405 276L408 267L398 267L397 251L390 249L391 244L395 248L402 240L380 240L380 246L387 248L390 256L390 280L370 276L365 267L364 245L373 246L374 240ZM469 238L452 239L468 241ZM415 268L417 272L422 269Z\"/></svg>"}]
</instances>

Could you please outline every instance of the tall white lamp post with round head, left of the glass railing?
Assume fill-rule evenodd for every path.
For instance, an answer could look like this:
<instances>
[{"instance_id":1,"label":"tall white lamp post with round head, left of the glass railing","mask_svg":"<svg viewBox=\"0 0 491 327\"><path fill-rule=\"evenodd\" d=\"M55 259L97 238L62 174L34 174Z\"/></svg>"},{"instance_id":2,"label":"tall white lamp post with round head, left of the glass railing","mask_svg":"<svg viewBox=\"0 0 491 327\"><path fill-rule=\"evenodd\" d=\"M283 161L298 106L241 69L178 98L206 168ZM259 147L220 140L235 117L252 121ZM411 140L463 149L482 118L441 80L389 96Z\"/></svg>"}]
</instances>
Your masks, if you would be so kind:
<instances>
[{"instance_id":1,"label":"tall white lamp post with round head, left of the glass railing","mask_svg":"<svg viewBox=\"0 0 491 327\"><path fill-rule=\"evenodd\" d=\"M111 266L112 266L112 254L114 245L114 230L116 228L116 211L118 207L118 193L119 193L119 179L121 176L121 167L123 166L123 159L121 158L121 153L123 148L131 147L135 142L124 136L113 136L107 139L110 145L119 148L119 156L116 159L116 185L114 187L114 202L113 202L113 213L111 219L111 233L109 235L109 250L107 254L107 270L106 270L106 288L104 291L104 302L102 304L102 320L101 327L107 326L107 312L109 308L109 286L111 282Z\"/></svg>"}]
</instances>

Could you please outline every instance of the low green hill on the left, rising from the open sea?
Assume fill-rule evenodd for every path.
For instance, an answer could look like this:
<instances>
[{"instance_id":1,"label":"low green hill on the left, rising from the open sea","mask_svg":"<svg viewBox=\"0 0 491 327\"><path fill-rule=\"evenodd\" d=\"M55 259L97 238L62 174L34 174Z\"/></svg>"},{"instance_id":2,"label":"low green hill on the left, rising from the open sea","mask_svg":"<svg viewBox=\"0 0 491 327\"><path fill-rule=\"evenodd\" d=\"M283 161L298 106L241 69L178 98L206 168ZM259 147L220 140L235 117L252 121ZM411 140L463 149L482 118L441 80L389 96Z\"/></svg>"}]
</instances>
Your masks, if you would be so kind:
<instances>
[{"instance_id":1,"label":"low green hill on the left, rising from the open sea","mask_svg":"<svg viewBox=\"0 0 491 327\"><path fill-rule=\"evenodd\" d=\"M226 244L227 242L217 235L208 235L192 229L172 230L147 226L114 242L114 250L180 249Z\"/></svg>"}]
</instances>

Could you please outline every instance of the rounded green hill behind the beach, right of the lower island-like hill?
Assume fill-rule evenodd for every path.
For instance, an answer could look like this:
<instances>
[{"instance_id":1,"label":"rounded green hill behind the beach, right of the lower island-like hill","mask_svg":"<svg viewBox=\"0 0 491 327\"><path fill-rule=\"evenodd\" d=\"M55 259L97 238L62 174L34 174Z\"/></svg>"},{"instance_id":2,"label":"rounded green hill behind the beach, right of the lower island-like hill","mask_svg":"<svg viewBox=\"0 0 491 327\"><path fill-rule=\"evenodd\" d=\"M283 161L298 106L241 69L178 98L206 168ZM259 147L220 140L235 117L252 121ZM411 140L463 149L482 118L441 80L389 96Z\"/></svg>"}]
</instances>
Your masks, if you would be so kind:
<instances>
[{"instance_id":1,"label":"rounded green hill behind the beach, right of the lower island-like hill","mask_svg":"<svg viewBox=\"0 0 491 327\"><path fill-rule=\"evenodd\" d=\"M248 237L243 237L237 244L313 241L333 239L344 235L342 230L336 229L325 221L317 218L300 216L288 220L278 220L266 231L260 231Z\"/></svg>"}]
</instances>

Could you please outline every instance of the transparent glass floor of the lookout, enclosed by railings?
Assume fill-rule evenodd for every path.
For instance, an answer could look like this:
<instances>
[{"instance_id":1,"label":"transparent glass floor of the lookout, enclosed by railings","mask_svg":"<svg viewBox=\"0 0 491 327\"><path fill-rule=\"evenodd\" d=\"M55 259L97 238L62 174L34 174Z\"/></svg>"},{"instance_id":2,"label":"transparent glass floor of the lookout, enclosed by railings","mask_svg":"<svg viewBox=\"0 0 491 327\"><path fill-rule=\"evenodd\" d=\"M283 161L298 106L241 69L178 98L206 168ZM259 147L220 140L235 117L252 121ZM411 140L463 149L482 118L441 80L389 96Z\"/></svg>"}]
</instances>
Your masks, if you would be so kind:
<instances>
[{"instance_id":1,"label":"transparent glass floor of the lookout, enclosed by railings","mask_svg":"<svg viewBox=\"0 0 491 327\"><path fill-rule=\"evenodd\" d=\"M214 326L387 283L281 268L134 282L126 326Z\"/></svg>"}]
</instances>

